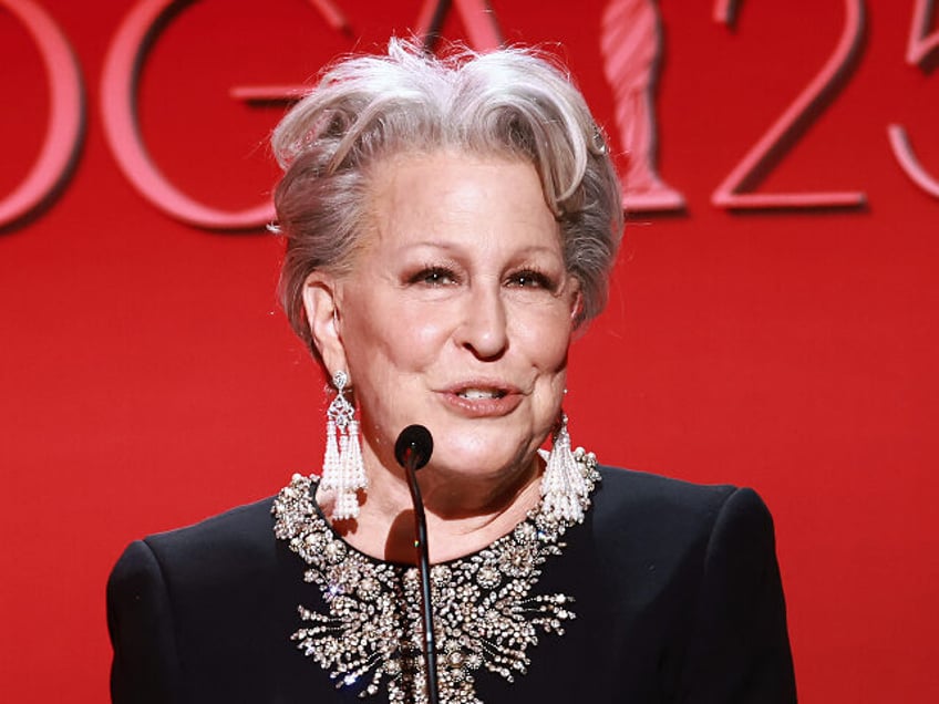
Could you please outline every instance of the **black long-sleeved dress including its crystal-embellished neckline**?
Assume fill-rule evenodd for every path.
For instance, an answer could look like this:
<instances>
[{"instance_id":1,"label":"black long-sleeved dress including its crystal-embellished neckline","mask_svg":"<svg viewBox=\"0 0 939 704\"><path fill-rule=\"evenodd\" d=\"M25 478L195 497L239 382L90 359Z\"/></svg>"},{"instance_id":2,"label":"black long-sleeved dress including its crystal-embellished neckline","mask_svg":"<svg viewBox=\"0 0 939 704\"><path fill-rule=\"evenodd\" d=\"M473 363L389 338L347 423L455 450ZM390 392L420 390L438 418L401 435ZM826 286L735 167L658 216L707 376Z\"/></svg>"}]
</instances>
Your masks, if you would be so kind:
<instances>
[{"instance_id":1,"label":"black long-sleeved dress including its crystal-embellished neckline","mask_svg":"<svg viewBox=\"0 0 939 704\"><path fill-rule=\"evenodd\" d=\"M435 567L440 669L455 673L442 701L795 702L760 497L599 472L584 522L554 542L523 521L491 548ZM107 584L115 704L388 702L389 692L412 701L406 677L395 680L409 655L388 650L390 638L407 640L407 619L393 633L370 620L395 597L412 613L404 568L345 549L320 530L314 505L298 520L283 497L126 549ZM403 586L382 593L372 576ZM375 642L384 645L369 650ZM376 693L360 698L369 684Z\"/></svg>"}]
</instances>

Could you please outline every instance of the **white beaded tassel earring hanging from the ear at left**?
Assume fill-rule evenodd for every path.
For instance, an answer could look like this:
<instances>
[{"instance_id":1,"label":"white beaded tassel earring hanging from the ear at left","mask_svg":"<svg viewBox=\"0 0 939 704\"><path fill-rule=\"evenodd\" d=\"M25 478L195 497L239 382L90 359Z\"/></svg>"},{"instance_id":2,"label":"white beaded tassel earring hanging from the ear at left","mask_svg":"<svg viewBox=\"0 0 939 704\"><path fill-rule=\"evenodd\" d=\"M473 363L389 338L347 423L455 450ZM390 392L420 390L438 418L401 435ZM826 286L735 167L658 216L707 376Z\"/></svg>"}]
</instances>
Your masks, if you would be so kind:
<instances>
[{"instance_id":1,"label":"white beaded tassel earring hanging from the ear at left","mask_svg":"<svg viewBox=\"0 0 939 704\"><path fill-rule=\"evenodd\" d=\"M355 493L369 486L359 445L359 423L355 408L345 398L349 374L338 371L332 375L336 398L326 412L326 455L320 486L336 494L332 519L344 520L359 516L359 497Z\"/></svg>"}]
</instances>

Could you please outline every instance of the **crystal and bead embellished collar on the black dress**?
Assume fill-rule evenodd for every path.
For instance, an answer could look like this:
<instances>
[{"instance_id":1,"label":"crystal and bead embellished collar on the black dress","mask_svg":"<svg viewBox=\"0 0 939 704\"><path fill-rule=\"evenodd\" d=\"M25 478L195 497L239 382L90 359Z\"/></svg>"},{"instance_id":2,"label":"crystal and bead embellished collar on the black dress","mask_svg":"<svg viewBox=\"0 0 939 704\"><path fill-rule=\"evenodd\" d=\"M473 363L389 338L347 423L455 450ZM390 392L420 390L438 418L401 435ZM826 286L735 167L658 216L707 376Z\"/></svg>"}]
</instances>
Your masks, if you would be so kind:
<instances>
[{"instance_id":1,"label":"crystal and bead embellished collar on the black dress","mask_svg":"<svg viewBox=\"0 0 939 704\"><path fill-rule=\"evenodd\" d=\"M575 459L590 490L600 475L582 448ZM322 593L326 611L299 607L302 628L290 638L337 682L365 697L386 684L392 704L426 703L421 651L417 570L382 562L347 543L316 503L314 478L293 475L274 501L275 534L287 540L309 568L307 582ZM527 650L538 632L564 633L575 618L566 594L532 594L541 565L561 553L560 540L575 520L557 519L541 504L515 529L478 552L433 566L441 701L482 704L474 673L484 667L513 682L525 674Z\"/></svg>"}]
</instances>

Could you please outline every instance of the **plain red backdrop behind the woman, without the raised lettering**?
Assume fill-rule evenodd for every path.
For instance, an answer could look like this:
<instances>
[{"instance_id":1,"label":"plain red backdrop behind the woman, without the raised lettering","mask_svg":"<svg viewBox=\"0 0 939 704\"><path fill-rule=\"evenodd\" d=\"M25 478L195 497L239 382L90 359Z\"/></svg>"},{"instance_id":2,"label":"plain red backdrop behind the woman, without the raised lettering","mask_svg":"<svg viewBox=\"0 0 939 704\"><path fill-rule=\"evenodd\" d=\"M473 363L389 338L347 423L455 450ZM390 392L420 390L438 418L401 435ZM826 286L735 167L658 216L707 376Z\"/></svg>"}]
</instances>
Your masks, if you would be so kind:
<instances>
[{"instance_id":1,"label":"plain red backdrop behind the woman, without the raised lettering","mask_svg":"<svg viewBox=\"0 0 939 704\"><path fill-rule=\"evenodd\" d=\"M321 453L323 381L275 302L279 244L180 222L143 197L109 115L122 95L136 105L153 163L188 197L262 205L283 106L238 102L231 86L302 83L339 52L406 32L422 2L336 0L345 32L317 2L178 3L136 45L136 93L122 94L106 56L156 4L0 2L0 199L50 136L68 137L66 118L49 127L50 71L68 87L72 65L84 96L71 172L0 230L4 701L106 701L104 582L124 545L270 495ZM474 4L454 3L446 35L472 34L460 10ZM602 18L611 6L661 17L658 170L685 207L630 218L609 309L572 353L574 441L606 463L761 491L804 702L931 704L939 76L935 55L907 59L911 34L936 43L931 3L737 4L730 27L720 1L492 2L508 41L565 58L618 151L600 48L622 27ZM47 69L24 17L50 19L74 62ZM864 204L715 205L845 41L838 79L744 185L863 191ZM132 56L114 55L126 72ZM919 183L890 124L909 135Z\"/></svg>"}]
</instances>

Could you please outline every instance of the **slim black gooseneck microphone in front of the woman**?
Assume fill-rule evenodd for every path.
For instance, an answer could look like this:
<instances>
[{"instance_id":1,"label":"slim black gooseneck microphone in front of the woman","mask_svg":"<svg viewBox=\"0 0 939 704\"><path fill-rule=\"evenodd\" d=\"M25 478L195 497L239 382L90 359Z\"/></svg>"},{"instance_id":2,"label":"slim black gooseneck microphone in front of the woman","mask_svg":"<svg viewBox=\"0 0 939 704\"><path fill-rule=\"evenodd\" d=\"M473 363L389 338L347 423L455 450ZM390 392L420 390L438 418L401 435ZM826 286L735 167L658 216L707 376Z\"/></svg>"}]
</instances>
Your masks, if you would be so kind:
<instances>
[{"instance_id":1,"label":"slim black gooseneck microphone in front of the woman","mask_svg":"<svg viewBox=\"0 0 939 704\"><path fill-rule=\"evenodd\" d=\"M409 425L394 443L394 458L407 475L411 501L414 504L414 532L417 539L417 571L421 574L421 601L423 601L424 622L424 663L427 674L427 701L438 704L437 694L437 650L434 642L434 611L431 604L431 559L427 551L427 520L424 517L424 500L417 486L417 469L431 459L434 452L434 438L423 425Z\"/></svg>"}]
</instances>

